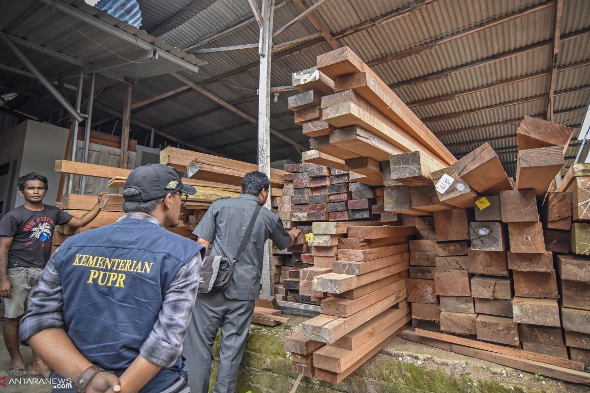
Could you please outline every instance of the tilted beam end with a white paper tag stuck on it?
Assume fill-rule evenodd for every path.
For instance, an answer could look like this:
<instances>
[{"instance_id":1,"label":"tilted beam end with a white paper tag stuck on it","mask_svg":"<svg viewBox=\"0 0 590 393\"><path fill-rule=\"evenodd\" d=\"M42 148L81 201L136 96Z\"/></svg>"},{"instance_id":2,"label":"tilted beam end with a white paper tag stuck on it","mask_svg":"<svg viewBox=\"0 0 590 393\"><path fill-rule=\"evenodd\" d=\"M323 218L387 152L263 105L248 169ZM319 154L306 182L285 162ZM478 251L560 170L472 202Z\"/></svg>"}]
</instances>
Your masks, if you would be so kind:
<instances>
[{"instance_id":1,"label":"tilted beam end with a white paper tag stuck on it","mask_svg":"<svg viewBox=\"0 0 590 393\"><path fill-rule=\"evenodd\" d=\"M455 207L471 207L473 205L473 198L477 196L477 193L470 189L453 167L433 171L430 173L430 177L441 202Z\"/></svg>"}]
</instances>

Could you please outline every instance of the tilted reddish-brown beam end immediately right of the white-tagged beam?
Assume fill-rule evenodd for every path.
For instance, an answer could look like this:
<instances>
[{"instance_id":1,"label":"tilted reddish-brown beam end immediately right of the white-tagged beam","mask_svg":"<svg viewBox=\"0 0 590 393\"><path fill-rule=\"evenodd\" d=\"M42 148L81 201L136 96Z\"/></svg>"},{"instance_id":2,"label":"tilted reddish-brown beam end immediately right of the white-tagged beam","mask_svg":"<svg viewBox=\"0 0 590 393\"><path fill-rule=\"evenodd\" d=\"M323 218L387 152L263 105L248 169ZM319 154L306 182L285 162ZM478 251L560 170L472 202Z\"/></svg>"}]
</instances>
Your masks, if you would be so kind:
<instances>
[{"instance_id":1,"label":"tilted reddish-brown beam end immediately right of the white-tagged beam","mask_svg":"<svg viewBox=\"0 0 590 393\"><path fill-rule=\"evenodd\" d=\"M512 190L500 158L489 143L461 157L452 167L463 181L482 195Z\"/></svg>"}]
</instances>

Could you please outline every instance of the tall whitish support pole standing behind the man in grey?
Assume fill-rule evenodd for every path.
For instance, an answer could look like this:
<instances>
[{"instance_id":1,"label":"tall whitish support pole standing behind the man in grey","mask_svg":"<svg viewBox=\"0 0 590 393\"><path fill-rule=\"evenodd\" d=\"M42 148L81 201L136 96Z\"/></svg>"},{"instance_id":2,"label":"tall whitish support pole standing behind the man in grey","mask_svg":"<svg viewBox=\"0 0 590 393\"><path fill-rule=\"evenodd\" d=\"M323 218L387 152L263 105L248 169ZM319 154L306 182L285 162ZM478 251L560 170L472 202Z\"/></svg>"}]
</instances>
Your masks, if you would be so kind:
<instances>
[{"instance_id":1,"label":"tall whitish support pole standing behind the man in grey","mask_svg":"<svg viewBox=\"0 0 590 393\"><path fill-rule=\"evenodd\" d=\"M274 0L262 2L262 27L260 28L260 76L258 81L258 170L270 179L270 62L273 48ZM270 209L270 198L266 205ZM270 241L264 246L262 293L274 292L274 269Z\"/></svg>"}]
</instances>

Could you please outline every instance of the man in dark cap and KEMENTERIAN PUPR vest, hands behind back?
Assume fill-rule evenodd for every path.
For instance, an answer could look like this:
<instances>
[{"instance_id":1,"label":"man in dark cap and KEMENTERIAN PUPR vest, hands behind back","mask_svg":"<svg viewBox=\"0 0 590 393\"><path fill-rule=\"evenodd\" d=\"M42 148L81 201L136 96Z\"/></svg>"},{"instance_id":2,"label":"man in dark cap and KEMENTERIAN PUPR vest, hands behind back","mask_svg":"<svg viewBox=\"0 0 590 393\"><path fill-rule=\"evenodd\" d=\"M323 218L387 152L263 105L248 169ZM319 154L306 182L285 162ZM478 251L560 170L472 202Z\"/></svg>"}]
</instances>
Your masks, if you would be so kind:
<instances>
[{"instance_id":1,"label":"man in dark cap and KEMENTERIAN PUPR vest, hands behind back","mask_svg":"<svg viewBox=\"0 0 590 393\"><path fill-rule=\"evenodd\" d=\"M171 167L139 167L126 214L51 256L20 339L78 391L189 392L182 342L205 249L165 227L195 192Z\"/></svg>"}]
</instances>

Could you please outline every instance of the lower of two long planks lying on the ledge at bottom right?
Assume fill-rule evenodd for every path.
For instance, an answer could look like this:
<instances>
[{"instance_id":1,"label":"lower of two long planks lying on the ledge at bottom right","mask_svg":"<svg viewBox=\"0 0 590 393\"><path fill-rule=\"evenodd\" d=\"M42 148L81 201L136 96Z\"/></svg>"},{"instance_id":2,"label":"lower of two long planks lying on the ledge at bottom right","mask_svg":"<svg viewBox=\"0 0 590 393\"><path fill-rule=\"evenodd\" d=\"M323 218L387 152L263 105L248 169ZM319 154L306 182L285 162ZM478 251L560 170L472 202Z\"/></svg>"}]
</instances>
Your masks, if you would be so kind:
<instances>
[{"instance_id":1,"label":"lower of two long planks lying on the ledge at bottom right","mask_svg":"<svg viewBox=\"0 0 590 393\"><path fill-rule=\"evenodd\" d=\"M584 371L573 370L566 367L537 362L530 359L523 359L517 356L498 354L496 352L485 351L478 348L470 348L463 345L443 342L437 339L419 336L412 331L402 332L402 337L421 344L434 346L435 348L444 349L445 351L455 352L457 354L470 356L472 358L489 361L504 366L521 369L523 371L540 373L545 377L562 379L563 381L574 382L576 384L588 384L590 374Z\"/></svg>"}]
</instances>

